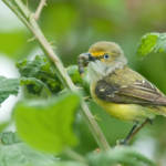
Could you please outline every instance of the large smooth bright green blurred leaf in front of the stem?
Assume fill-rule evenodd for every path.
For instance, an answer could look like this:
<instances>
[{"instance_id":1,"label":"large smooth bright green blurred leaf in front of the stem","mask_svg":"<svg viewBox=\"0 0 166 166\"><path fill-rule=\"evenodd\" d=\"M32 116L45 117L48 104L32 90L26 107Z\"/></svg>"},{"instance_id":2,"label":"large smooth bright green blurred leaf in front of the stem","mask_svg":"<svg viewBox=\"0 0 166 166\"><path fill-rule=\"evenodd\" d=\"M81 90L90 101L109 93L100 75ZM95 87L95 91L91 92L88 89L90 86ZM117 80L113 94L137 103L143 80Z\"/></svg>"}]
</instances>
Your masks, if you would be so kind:
<instances>
[{"instance_id":1,"label":"large smooth bright green blurred leaf in front of the stem","mask_svg":"<svg viewBox=\"0 0 166 166\"><path fill-rule=\"evenodd\" d=\"M14 107L18 134L31 146L49 153L60 153L66 146L74 146L77 139L73 123L79 103L79 95L73 93L39 104L19 102Z\"/></svg>"}]
</instances>

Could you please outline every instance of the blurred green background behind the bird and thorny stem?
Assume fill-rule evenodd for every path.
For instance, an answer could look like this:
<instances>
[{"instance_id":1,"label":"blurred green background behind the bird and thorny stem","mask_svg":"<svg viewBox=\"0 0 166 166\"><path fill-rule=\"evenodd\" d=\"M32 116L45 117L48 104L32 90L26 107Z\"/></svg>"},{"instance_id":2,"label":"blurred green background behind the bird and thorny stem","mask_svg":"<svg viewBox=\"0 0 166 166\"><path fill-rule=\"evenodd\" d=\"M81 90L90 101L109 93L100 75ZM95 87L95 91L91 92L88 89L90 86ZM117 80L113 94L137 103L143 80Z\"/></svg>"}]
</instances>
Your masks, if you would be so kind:
<instances>
[{"instance_id":1,"label":"blurred green background behind the bird and thorny stem","mask_svg":"<svg viewBox=\"0 0 166 166\"><path fill-rule=\"evenodd\" d=\"M31 11L35 11L39 2L28 0ZM86 52L94 42L113 41L122 46L128 65L166 94L166 54L149 54L144 61L135 56L137 44L145 33L166 31L165 0L48 0L46 3L38 22L48 41L55 41L52 45L64 66L76 64L77 55ZM7 7L3 8L6 10ZM35 40L28 42L33 37L27 28L10 10L8 15L4 13L0 12L0 56L9 58L14 65L19 60L42 54ZM2 63L0 61L0 65ZM3 70L7 69L10 66L6 65ZM0 74L3 74L2 71ZM97 123L111 146L128 134L132 125L112 118L93 102L89 102L89 106L102 120ZM76 133L81 141L75 151L81 154L94 151L97 145L80 116L77 124ZM143 128L132 145L148 157L156 158L158 165L164 165L166 118L157 116L154 125Z\"/></svg>"}]
</instances>

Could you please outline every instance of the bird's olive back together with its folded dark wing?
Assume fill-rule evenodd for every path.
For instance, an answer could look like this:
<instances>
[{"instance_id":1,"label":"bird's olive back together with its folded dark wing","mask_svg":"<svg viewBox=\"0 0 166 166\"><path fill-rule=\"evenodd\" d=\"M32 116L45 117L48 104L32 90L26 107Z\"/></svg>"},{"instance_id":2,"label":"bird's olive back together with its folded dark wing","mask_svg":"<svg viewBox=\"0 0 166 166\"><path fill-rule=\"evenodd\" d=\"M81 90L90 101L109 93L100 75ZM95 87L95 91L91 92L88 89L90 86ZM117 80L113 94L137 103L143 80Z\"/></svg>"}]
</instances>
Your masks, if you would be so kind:
<instances>
[{"instance_id":1,"label":"bird's olive back together with its folded dark wing","mask_svg":"<svg viewBox=\"0 0 166 166\"><path fill-rule=\"evenodd\" d=\"M95 85L95 94L113 103L166 105L166 96L127 66L100 80Z\"/></svg>"}]
</instances>

